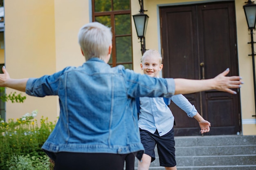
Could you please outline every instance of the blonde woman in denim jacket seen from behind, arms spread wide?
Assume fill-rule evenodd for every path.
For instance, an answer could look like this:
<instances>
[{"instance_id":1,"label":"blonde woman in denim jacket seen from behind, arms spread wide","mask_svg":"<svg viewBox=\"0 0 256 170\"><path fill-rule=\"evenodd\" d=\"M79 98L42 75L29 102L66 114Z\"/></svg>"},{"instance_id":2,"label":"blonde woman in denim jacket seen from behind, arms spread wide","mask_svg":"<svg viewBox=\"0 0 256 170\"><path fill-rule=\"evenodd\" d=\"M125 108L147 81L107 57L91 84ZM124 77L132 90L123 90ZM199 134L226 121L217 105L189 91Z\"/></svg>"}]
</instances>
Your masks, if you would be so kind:
<instances>
[{"instance_id":1,"label":"blonde woman in denim jacket seen from behind, arms spread wide","mask_svg":"<svg viewBox=\"0 0 256 170\"><path fill-rule=\"evenodd\" d=\"M11 79L3 67L0 86L45 97L57 95L58 122L42 146L54 160L54 170L123 170L134 153L141 160L135 97L171 97L216 89L236 94L239 76L213 79L157 79L134 73L124 66L108 65L112 50L110 28L91 22L81 27L79 45L86 62L79 67L40 78Z\"/></svg>"}]
</instances>

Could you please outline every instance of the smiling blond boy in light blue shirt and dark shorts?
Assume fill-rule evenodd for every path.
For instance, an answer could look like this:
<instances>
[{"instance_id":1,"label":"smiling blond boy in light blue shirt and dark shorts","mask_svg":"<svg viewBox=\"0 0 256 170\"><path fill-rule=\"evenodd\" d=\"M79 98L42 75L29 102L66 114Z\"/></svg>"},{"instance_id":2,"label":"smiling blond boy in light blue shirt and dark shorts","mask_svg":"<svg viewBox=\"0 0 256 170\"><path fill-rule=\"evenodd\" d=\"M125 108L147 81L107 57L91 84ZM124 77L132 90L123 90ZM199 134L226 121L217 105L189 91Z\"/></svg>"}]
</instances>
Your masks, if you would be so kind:
<instances>
[{"instance_id":1,"label":"smiling blond boy in light blue shirt and dark shorts","mask_svg":"<svg viewBox=\"0 0 256 170\"><path fill-rule=\"evenodd\" d=\"M162 57L156 50L148 50L141 58L141 70L150 77L158 77L162 70ZM201 133L209 132L211 124L204 120L195 107L183 96L174 95L171 100L184 110L189 117L194 117L201 128ZM166 170L177 170L175 161L174 117L162 97L139 97L139 128L141 143L145 152L138 170L148 170L150 162L155 160L155 145L159 155L160 166ZM168 103L168 105L170 102Z\"/></svg>"}]
</instances>

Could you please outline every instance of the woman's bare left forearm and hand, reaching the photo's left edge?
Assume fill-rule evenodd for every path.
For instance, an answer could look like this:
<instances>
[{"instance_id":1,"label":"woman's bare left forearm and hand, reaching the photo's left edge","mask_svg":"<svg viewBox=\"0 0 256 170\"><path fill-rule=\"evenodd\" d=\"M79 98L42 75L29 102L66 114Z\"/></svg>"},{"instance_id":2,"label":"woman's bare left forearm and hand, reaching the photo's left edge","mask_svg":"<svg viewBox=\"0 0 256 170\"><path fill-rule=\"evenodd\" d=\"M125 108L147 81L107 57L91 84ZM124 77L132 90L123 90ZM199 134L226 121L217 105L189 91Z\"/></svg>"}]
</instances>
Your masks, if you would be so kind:
<instances>
[{"instance_id":1,"label":"woman's bare left forearm and hand, reaching the photo's left edge","mask_svg":"<svg viewBox=\"0 0 256 170\"><path fill-rule=\"evenodd\" d=\"M0 87L9 87L18 91L25 92L28 79L11 79L9 73L2 67L3 74L0 74Z\"/></svg>"}]
</instances>

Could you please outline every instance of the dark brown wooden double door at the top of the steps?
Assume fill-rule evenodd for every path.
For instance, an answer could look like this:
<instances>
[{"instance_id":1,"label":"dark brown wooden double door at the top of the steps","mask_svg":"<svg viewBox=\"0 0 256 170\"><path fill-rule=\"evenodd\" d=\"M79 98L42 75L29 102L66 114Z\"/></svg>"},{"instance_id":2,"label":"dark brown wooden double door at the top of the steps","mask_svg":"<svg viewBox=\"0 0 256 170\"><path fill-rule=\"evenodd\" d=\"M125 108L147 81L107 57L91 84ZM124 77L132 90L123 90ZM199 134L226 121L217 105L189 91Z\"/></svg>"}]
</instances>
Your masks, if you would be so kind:
<instances>
[{"instance_id":1,"label":"dark brown wooden double door at the top of the steps","mask_svg":"<svg viewBox=\"0 0 256 170\"><path fill-rule=\"evenodd\" d=\"M234 2L160 7L163 76L187 79L213 78L226 68L238 75ZM240 132L240 95L205 91L185 95L211 122L206 135ZM175 135L200 135L195 119L175 104Z\"/></svg>"}]
</instances>

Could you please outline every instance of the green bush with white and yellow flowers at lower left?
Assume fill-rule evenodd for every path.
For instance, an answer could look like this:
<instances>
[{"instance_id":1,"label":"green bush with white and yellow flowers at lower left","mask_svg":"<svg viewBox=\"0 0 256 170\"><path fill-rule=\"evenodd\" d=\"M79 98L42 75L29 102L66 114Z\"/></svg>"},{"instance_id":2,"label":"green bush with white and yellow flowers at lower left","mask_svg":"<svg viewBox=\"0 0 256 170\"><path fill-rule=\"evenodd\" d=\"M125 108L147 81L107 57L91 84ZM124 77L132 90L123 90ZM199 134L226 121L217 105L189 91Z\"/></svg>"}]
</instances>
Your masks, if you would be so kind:
<instances>
[{"instance_id":1,"label":"green bush with white and yellow flowers at lower left","mask_svg":"<svg viewBox=\"0 0 256 170\"><path fill-rule=\"evenodd\" d=\"M52 169L53 165L46 163L50 160L41 147L56 122L52 123L47 117L42 117L38 126L35 119L37 113L37 110L31 114L26 113L16 121L9 119L5 122L0 118L0 170Z\"/></svg>"}]
</instances>

